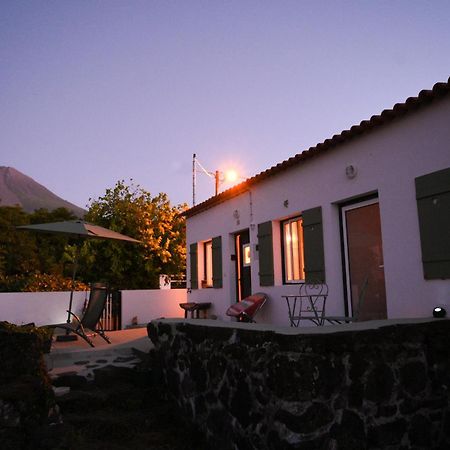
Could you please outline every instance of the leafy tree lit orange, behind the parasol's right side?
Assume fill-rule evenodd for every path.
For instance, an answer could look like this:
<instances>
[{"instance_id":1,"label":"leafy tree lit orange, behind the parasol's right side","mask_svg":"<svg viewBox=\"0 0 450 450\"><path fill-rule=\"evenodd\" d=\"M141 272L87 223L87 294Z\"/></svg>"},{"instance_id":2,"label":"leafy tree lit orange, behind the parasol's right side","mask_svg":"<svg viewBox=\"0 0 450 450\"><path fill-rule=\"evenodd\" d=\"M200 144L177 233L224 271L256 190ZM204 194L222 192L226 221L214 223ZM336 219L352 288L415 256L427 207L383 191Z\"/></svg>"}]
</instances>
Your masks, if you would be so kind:
<instances>
[{"instance_id":1,"label":"leafy tree lit orange, behind the parasol's right side","mask_svg":"<svg viewBox=\"0 0 450 450\"><path fill-rule=\"evenodd\" d=\"M141 241L89 240L82 248L86 281L104 280L120 289L156 288L159 275L181 276L186 268L186 205L171 206L166 194L152 197L139 185L118 181L91 202L86 220Z\"/></svg>"}]
</instances>

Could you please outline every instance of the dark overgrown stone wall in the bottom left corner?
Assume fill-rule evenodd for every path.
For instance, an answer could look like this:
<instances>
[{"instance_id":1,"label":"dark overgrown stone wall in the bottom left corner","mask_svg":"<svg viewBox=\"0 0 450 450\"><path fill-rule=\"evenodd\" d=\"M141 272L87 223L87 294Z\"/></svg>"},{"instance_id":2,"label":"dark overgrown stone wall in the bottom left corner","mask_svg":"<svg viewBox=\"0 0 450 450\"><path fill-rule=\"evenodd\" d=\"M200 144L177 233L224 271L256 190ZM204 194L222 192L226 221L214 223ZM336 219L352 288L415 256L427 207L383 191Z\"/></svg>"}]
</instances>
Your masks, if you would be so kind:
<instances>
[{"instance_id":1,"label":"dark overgrown stone wall in the bottom left corner","mask_svg":"<svg viewBox=\"0 0 450 450\"><path fill-rule=\"evenodd\" d=\"M38 436L59 413L43 352L50 334L0 322L0 442L2 449L40 448Z\"/></svg>"}]
</instances>

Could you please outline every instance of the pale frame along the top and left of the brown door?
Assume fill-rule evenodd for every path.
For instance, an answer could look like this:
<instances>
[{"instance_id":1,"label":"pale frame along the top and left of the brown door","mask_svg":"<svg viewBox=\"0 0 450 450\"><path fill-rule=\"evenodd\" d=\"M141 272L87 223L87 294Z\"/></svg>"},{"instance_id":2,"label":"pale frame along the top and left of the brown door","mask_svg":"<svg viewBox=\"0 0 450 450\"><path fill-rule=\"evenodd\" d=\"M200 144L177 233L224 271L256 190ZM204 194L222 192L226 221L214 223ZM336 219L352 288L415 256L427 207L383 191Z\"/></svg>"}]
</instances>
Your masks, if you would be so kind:
<instances>
[{"instance_id":1,"label":"pale frame along the top and left of the brown door","mask_svg":"<svg viewBox=\"0 0 450 450\"><path fill-rule=\"evenodd\" d=\"M345 299L345 309L346 315L353 316L353 302L352 302L352 289L350 282L350 264L348 255L348 233L347 233L347 220L345 213L353 209L363 208L364 206L369 206L377 203L380 204L378 195L373 195L365 198L355 199L351 202L340 205L339 217L341 222L341 241L342 241L342 259L344 268L344 299ZM384 252L383 252L384 258Z\"/></svg>"}]
</instances>

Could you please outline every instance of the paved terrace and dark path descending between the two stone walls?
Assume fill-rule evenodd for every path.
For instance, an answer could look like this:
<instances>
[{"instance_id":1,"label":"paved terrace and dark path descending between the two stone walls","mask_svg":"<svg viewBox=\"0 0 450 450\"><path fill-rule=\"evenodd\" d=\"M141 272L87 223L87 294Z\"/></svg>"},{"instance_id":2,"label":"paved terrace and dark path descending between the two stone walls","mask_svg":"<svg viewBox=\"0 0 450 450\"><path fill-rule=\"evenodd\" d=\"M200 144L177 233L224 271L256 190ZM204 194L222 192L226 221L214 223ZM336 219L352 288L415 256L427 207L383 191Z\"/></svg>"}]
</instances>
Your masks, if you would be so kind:
<instances>
[{"instance_id":1,"label":"paved terrace and dark path descending between the two stone walls","mask_svg":"<svg viewBox=\"0 0 450 450\"><path fill-rule=\"evenodd\" d=\"M112 343L97 335L94 348L81 338L52 342L46 363L62 422L49 427L38 448L208 449L162 386L145 371L130 369L139 367L153 346L147 329L106 334Z\"/></svg>"}]
</instances>

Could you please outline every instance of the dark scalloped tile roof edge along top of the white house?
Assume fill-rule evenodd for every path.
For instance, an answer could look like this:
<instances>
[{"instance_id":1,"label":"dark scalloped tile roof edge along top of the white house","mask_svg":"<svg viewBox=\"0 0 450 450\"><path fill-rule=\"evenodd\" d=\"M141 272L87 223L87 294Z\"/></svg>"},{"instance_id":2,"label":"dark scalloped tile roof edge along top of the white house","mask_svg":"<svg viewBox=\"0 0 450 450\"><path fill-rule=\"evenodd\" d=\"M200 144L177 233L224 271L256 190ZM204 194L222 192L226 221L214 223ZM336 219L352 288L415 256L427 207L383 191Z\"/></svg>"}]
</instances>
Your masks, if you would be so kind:
<instances>
[{"instance_id":1,"label":"dark scalloped tile roof edge along top of the white house","mask_svg":"<svg viewBox=\"0 0 450 450\"><path fill-rule=\"evenodd\" d=\"M353 125L349 130L344 130L340 134L335 134L332 138L326 139L325 141L310 147L297 155L289 158L276 166L270 167L263 172L248 178L242 183L221 192L219 195L209 198L208 200L199 203L198 205L188 209L184 214L186 217L192 217L200 212L212 208L213 206L222 203L230 198L236 197L249 187L260 183L268 177L279 174L286 169L296 166L297 164L306 161L307 159L313 158L316 155L322 154L327 150L337 147L344 142L354 139L363 133L368 133L374 129L386 125L393 120L400 118L406 114L410 114L413 111L429 105L432 101L445 97L450 93L450 77L445 83L436 83L431 90L423 90L419 92L417 97L409 97L404 103L397 103L392 109L385 109L381 114L372 116L369 120L363 120L359 125Z\"/></svg>"}]
</instances>

